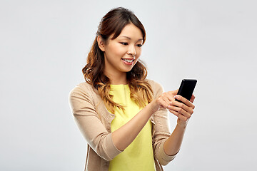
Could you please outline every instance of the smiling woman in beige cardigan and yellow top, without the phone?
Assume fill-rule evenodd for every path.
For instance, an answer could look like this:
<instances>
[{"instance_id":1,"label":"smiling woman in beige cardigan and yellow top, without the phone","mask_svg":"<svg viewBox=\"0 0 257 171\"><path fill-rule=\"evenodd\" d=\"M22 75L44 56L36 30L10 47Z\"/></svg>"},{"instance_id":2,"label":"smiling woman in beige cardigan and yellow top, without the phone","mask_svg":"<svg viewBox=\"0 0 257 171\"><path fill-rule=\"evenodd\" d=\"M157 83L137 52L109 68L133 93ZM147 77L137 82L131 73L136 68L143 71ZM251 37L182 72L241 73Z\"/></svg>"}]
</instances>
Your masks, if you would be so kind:
<instances>
[{"instance_id":1,"label":"smiling woman in beige cardigan and yellow top, without the phone","mask_svg":"<svg viewBox=\"0 0 257 171\"><path fill-rule=\"evenodd\" d=\"M194 96L188 101L177 90L163 93L146 79L138 61L145 41L143 25L128 9L112 9L99 24L82 70L86 82L69 94L88 142L85 170L163 170L181 147ZM168 111L178 117L172 134Z\"/></svg>"}]
</instances>

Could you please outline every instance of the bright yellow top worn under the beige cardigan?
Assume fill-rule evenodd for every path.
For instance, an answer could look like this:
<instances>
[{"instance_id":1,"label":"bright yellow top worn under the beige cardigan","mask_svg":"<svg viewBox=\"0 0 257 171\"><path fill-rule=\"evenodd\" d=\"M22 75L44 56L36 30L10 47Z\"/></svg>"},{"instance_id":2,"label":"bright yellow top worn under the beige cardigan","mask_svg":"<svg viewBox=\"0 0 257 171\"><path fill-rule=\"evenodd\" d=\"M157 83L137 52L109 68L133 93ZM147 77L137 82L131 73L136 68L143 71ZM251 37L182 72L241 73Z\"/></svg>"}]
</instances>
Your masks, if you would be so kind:
<instances>
[{"instance_id":1,"label":"bright yellow top worn under the beige cardigan","mask_svg":"<svg viewBox=\"0 0 257 171\"><path fill-rule=\"evenodd\" d=\"M138 105L131 100L128 85L111 85L110 94L114 95L113 100L116 103L124 105L125 107L124 112L119 108L115 109L115 118L111 122L111 132L114 132L122 125L129 122L142 108L139 108ZM120 170L155 170L150 120L148 120L136 139L126 147L124 152L121 152L111 160L109 171Z\"/></svg>"}]
</instances>

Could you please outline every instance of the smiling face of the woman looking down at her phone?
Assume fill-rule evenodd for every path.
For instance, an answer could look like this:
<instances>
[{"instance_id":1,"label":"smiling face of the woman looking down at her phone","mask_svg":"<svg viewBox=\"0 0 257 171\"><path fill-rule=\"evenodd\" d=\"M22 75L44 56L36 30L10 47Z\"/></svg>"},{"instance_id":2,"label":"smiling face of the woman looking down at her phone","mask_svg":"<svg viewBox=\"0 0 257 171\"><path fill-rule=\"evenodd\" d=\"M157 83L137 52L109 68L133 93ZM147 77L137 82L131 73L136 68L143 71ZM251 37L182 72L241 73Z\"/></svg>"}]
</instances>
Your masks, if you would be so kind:
<instances>
[{"instance_id":1,"label":"smiling face of the woman looking down at her phone","mask_svg":"<svg viewBox=\"0 0 257 171\"><path fill-rule=\"evenodd\" d=\"M111 40L112 34L104 44L104 72L106 75L114 73L126 73L131 71L141 55L143 45L143 34L133 24L128 24L121 31L121 34Z\"/></svg>"}]
</instances>

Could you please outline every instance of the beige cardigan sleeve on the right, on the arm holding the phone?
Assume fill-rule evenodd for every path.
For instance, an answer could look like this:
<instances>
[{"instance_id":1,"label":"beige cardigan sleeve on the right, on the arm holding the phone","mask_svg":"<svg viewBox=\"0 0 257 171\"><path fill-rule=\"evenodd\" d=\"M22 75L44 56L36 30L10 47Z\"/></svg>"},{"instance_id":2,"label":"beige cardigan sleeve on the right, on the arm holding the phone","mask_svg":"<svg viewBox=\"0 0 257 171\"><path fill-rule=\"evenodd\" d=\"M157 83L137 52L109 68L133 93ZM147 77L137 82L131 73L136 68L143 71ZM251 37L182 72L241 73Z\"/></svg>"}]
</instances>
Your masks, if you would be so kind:
<instances>
[{"instance_id":1,"label":"beige cardigan sleeve on the right, on the arm holding the phone","mask_svg":"<svg viewBox=\"0 0 257 171\"><path fill-rule=\"evenodd\" d=\"M154 82L153 97L158 98L163 93L163 88L160 84ZM153 131L153 152L156 155L158 162L161 165L167 165L176 157L175 155L167 155L164 152L164 142L171 135L169 128L168 110L161 109L153 113L154 131Z\"/></svg>"}]
</instances>

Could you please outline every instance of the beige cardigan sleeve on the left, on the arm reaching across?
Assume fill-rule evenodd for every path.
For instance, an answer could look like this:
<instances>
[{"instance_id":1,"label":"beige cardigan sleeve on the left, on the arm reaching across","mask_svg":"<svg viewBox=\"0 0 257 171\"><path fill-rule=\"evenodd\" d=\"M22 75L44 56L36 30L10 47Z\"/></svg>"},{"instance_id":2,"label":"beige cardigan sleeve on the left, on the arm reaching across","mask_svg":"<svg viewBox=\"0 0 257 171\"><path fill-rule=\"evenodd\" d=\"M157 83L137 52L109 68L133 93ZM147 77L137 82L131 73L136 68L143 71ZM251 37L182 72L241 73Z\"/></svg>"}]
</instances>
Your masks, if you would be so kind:
<instances>
[{"instance_id":1,"label":"beige cardigan sleeve on the left, on the arm reaching across","mask_svg":"<svg viewBox=\"0 0 257 171\"><path fill-rule=\"evenodd\" d=\"M86 88L76 87L69 93L71 112L84 138L100 157L110 161L122 151L116 148L111 133L101 123L93 100Z\"/></svg>"}]
</instances>

